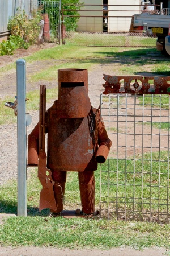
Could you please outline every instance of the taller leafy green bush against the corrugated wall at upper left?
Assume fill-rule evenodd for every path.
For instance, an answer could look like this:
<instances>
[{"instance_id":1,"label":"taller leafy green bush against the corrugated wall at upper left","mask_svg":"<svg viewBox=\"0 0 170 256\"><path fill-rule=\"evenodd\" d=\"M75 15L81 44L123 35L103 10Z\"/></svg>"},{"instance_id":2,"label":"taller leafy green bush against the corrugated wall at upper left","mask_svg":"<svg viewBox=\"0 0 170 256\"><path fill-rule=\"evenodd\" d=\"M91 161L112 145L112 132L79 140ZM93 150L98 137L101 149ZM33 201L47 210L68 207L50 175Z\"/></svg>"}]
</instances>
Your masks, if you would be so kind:
<instances>
[{"instance_id":1,"label":"taller leafy green bush against the corrugated wall at upper left","mask_svg":"<svg viewBox=\"0 0 170 256\"><path fill-rule=\"evenodd\" d=\"M20 36L24 42L35 44L40 32L40 10L32 11L31 16L29 19L24 10L18 9L15 16L10 18L7 29L12 36Z\"/></svg>"}]
</instances>

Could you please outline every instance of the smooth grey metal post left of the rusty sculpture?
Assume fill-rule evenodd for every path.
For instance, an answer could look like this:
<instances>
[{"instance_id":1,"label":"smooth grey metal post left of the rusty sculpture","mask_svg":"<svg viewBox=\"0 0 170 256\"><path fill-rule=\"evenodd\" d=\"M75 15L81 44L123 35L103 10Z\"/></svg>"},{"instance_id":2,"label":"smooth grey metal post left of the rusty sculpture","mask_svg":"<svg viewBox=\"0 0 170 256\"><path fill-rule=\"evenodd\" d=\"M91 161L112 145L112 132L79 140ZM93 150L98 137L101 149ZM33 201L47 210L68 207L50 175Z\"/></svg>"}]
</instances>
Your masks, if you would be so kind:
<instances>
[{"instance_id":1,"label":"smooth grey metal post left of the rusty sculpture","mask_svg":"<svg viewBox=\"0 0 170 256\"><path fill-rule=\"evenodd\" d=\"M16 61L17 142L18 142L18 208L19 216L27 216L27 146L26 146L26 72L25 60Z\"/></svg>"}]
</instances>

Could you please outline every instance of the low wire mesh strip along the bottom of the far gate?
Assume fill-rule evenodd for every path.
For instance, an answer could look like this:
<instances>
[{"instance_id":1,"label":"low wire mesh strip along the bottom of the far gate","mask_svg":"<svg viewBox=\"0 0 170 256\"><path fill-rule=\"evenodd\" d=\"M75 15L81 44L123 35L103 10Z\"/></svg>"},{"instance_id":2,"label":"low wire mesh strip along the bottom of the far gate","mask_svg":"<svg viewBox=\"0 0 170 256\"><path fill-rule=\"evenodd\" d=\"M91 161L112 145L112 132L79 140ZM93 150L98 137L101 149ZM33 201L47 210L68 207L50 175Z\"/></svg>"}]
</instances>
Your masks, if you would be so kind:
<instances>
[{"instance_id":1,"label":"low wire mesh strip along the bottom of the far gate","mask_svg":"<svg viewBox=\"0 0 170 256\"><path fill-rule=\"evenodd\" d=\"M156 38L146 33L66 31L64 40L78 46L156 47Z\"/></svg>"}]
</instances>

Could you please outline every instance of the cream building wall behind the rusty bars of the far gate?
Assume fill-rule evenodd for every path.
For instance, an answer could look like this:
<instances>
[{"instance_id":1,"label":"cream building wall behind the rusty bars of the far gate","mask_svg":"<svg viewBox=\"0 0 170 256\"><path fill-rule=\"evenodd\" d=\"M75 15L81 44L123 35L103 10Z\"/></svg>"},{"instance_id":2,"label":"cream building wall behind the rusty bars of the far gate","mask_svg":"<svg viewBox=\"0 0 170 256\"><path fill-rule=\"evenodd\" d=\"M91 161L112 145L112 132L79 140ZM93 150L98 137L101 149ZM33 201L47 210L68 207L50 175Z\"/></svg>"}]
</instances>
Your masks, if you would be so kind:
<instances>
[{"instance_id":1,"label":"cream building wall behind the rusty bars of the far gate","mask_svg":"<svg viewBox=\"0 0 170 256\"><path fill-rule=\"evenodd\" d=\"M83 0L85 5L103 5L103 0ZM131 17L135 13L141 13L142 0L108 0L109 6L108 16L117 16L108 18L108 32L128 32L130 30ZM131 6L124 6L131 5ZM103 16L103 6L84 6L83 10L101 10L101 11L79 11L81 17L78 22L78 32L103 32L103 17L95 18L92 16ZM124 11L126 10L126 11ZM129 10L129 11L127 11Z\"/></svg>"}]
</instances>

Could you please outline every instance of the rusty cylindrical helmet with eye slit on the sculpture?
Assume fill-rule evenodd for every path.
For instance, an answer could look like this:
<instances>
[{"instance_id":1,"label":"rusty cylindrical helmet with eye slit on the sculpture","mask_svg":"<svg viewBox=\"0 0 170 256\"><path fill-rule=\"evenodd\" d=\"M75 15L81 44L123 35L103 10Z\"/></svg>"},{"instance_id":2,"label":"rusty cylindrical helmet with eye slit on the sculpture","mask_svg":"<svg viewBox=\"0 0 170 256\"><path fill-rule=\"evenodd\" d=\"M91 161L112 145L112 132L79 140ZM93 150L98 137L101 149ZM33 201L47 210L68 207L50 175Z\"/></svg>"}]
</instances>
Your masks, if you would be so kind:
<instances>
[{"instance_id":1,"label":"rusty cylindrical helmet with eye slit on the sculpture","mask_svg":"<svg viewBox=\"0 0 170 256\"><path fill-rule=\"evenodd\" d=\"M87 69L58 69L58 117L83 118L90 109Z\"/></svg>"}]
</instances>

